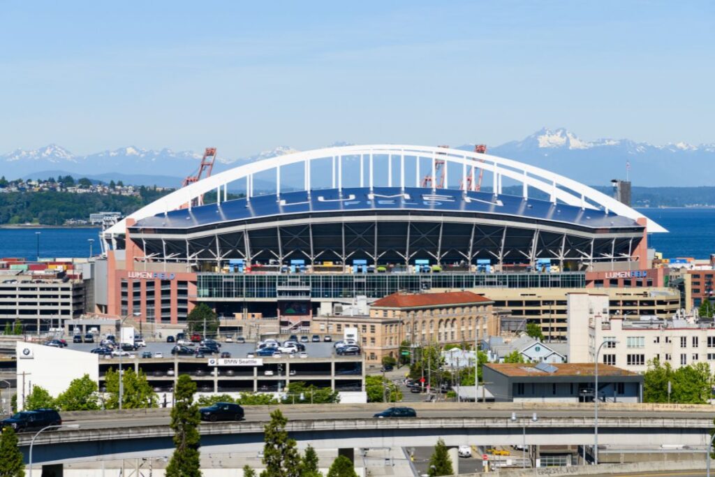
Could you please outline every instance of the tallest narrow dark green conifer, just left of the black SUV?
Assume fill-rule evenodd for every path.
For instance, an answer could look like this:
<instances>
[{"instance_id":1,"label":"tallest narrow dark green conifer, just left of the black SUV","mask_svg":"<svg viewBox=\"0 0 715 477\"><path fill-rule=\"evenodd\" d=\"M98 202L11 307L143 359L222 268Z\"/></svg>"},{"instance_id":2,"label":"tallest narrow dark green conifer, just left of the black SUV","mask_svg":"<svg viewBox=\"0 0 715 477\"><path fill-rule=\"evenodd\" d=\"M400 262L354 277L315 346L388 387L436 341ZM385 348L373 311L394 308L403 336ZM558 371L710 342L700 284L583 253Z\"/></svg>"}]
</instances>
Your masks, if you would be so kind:
<instances>
[{"instance_id":1,"label":"tallest narrow dark green conifer, just left of the black SUV","mask_svg":"<svg viewBox=\"0 0 715 477\"><path fill-rule=\"evenodd\" d=\"M167 477L201 477L199 447L201 435L199 406L194 403L196 383L182 374L177 380L176 403L169 427L174 431L174 453L167 465Z\"/></svg>"}]
</instances>

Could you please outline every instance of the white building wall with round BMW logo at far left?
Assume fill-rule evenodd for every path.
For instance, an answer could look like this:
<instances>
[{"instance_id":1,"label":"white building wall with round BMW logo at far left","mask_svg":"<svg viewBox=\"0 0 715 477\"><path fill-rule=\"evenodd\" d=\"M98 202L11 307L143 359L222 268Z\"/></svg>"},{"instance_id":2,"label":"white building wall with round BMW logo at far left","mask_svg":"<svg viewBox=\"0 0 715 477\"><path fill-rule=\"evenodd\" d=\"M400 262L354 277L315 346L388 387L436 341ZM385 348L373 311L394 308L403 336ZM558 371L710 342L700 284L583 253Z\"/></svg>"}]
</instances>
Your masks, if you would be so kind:
<instances>
[{"instance_id":1,"label":"white building wall with round BMW logo at far left","mask_svg":"<svg viewBox=\"0 0 715 477\"><path fill-rule=\"evenodd\" d=\"M72 380L86 374L99 381L99 355L22 341L17 342L16 353L18 409L24 408L24 398L35 384L56 398Z\"/></svg>"}]
</instances>

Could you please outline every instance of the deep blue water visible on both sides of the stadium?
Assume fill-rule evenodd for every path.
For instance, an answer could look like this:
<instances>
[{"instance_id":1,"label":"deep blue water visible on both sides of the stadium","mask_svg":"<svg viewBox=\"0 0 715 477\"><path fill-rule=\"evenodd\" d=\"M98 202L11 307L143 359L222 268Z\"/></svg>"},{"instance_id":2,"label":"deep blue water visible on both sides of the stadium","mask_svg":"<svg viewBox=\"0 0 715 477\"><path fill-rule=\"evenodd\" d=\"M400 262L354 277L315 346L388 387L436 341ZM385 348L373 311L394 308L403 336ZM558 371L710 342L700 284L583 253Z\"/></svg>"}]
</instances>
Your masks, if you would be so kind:
<instances>
[{"instance_id":1,"label":"deep blue water visible on both sides of the stadium","mask_svg":"<svg viewBox=\"0 0 715 477\"><path fill-rule=\"evenodd\" d=\"M707 258L715 253L715 209L640 209L644 215L670 231L651 234L649 246L664 257ZM0 257L36 257L36 235L40 232L41 257L88 257L89 239L99 252L97 228L0 229Z\"/></svg>"}]
</instances>

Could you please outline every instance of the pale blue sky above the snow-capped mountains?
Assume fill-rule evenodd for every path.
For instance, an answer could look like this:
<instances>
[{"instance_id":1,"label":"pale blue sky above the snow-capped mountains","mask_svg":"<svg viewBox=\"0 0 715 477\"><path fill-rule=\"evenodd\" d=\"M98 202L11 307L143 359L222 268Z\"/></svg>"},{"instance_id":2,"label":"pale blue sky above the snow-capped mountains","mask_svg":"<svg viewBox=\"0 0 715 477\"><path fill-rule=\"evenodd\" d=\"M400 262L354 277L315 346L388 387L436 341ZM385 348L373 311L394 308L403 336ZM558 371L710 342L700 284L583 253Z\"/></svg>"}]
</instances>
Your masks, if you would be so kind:
<instances>
[{"instance_id":1,"label":"pale blue sky above the snow-capped mountains","mask_svg":"<svg viewBox=\"0 0 715 477\"><path fill-rule=\"evenodd\" d=\"M0 153L715 142L714 5L0 0Z\"/></svg>"}]
</instances>

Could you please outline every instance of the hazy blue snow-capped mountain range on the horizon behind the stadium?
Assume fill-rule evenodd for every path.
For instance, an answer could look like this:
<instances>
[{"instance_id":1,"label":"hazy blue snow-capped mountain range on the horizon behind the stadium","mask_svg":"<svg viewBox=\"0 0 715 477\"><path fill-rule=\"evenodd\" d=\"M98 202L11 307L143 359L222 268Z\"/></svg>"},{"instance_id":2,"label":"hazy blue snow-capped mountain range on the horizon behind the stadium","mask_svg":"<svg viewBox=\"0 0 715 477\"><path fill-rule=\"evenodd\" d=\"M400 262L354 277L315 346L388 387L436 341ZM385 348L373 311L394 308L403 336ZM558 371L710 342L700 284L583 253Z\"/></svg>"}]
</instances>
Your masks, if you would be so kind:
<instances>
[{"instance_id":1,"label":"hazy blue snow-capped mountain range on the horizon behind the stadium","mask_svg":"<svg viewBox=\"0 0 715 477\"><path fill-rule=\"evenodd\" d=\"M458 149L472 150L473 147L473 144L463 144ZM282 146L232 159L219 155L214 172L291 152L297 149ZM490 146L488 152L543 167L588 185L608 185L611 179L624 179L626 164L634 186L711 185L706 171L715 164L715 144L653 145L631 139L585 140L563 128L543 128L524 139ZM201 154L192 151L132 146L79 156L49 144L39 149L16 149L0 154L0 175L8 179L44 179L71 174L104 182L114 179L136 185L177 187L184 176L198 169L200 158Z\"/></svg>"}]
</instances>

